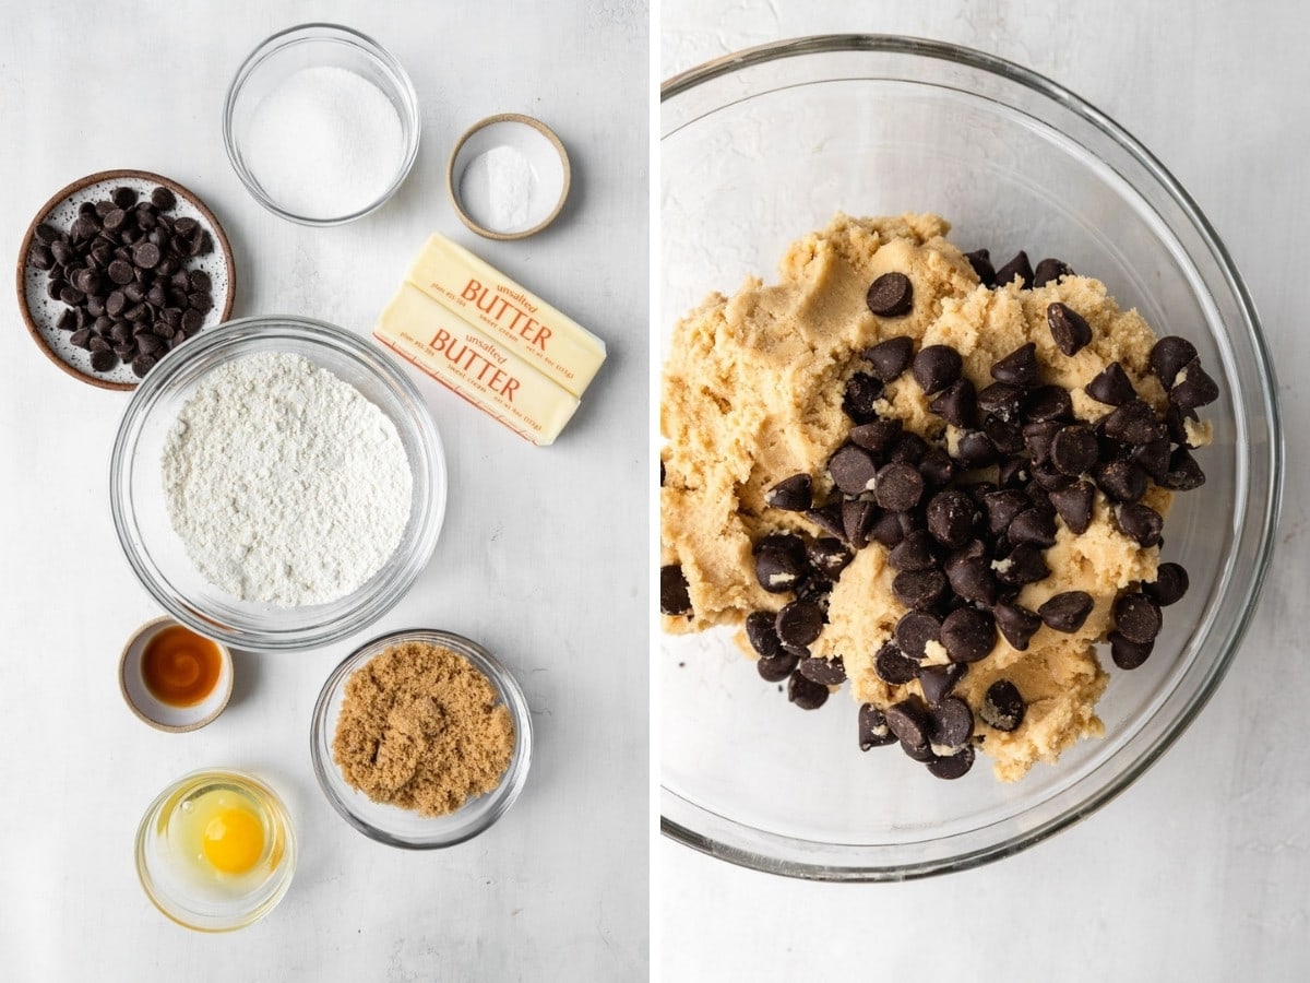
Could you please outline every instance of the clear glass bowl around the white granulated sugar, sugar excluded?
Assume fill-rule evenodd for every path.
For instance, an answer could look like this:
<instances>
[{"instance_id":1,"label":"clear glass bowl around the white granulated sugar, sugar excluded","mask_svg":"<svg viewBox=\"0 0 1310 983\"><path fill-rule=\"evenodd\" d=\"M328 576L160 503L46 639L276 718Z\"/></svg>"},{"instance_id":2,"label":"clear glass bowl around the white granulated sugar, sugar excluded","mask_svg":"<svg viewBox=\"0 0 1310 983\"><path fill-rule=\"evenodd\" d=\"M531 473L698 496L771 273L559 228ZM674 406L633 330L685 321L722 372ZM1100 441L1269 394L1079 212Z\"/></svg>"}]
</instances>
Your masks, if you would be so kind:
<instances>
[{"instance_id":1,"label":"clear glass bowl around the white granulated sugar, sugar excluded","mask_svg":"<svg viewBox=\"0 0 1310 983\"><path fill-rule=\"evenodd\" d=\"M386 190L372 203L345 215L299 215L284 208L265 191L242 152L244 139L259 102L287 76L303 68L318 67L345 68L377 85L396 107L405 142L400 168ZM401 63L368 35L338 24L301 24L270 37L241 63L223 106L223 144L232 169L259 204L274 215L301 225L342 225L383 207L414 166L422 132L418 94Z\"/></svg>"}]
</instances>

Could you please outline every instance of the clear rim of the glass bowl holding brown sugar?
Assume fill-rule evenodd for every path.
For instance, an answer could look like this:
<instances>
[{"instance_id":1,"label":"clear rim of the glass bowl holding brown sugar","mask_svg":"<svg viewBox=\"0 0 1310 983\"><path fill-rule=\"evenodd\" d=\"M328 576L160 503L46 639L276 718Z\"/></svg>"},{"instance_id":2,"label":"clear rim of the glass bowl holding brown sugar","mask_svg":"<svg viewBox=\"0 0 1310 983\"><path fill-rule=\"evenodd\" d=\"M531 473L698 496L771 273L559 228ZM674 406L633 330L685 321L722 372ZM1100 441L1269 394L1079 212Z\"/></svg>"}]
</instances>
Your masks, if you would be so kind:
<instances>
[{"instance_id":1,"label":"clear rim of the glass bowl holding brown sugar","mask_svg":"<svg viewBox=\"0 0 1310 983\"><path fill-rule=\"evenodd\" d=\"M337 773L338 780L345 784L345 779L339 777L341 772L337 771L337 764L331 760L331 735L328 733L329 722L335 723L335 720L328 720L328 706L331 703L333 693L345 684L348 675L373 658L373 655L393 645L409 641L443 645L464 655L491 680L499 691L502 701L510 708L510 714L514 717L514 756L510 759L510 767L506 769L506 775L495 790L487 793L494 801L477 826L465 830L458 836L414 840L403 839L386 830L381 830L355 814L350 803L338 794L337 786L328 776L328 769L330 768ZM483 646L453 632L443 632L435 628L406 628L400 632L388 632L369 642L364 642L342 659L331 675L328 676L328 682L318 691L318 700L314 703L314 716L309 726L309 756L314 763L314 777L318 780L318 788L322 789L324 796L341 818L359 830L359 832L379 843L385 843L388 847L400 847L401 849L444 849L445 847L466 843L474 836L486 832L502 815L510 811L510 806L519 798L519 793L523 792L523 786L528 780L528 768L532 764L532 714L528 710L528 700L523 695L519 680ZM457 814L456 811L451 815Z\"/></svg>"}]
</instances>

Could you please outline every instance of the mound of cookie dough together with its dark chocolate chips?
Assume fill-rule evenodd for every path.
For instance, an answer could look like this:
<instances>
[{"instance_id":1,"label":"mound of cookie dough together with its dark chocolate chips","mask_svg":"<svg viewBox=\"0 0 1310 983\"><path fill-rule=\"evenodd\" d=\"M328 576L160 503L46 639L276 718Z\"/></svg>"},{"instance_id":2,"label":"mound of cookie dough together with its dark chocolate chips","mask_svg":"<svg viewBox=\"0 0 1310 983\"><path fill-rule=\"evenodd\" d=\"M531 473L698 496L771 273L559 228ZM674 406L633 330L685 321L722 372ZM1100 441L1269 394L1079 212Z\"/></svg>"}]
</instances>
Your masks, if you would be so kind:
<instances>
[{"instance_id":1,"label":"mound of cookie dough together with its dark chocolate chips","mask_svg":"<svg viewBox=\"0 0 1310 983\"><path fill-rule=\"evenodd\" d=\"M1104 284L960 253L933 215L838 215L679 322L665 364L662 609L744 625L803 709L850 687L852 744L998 779L1098 737L1187 573L1161 564L1204 482L1196 349ZM782 712L779 709L779 712Z\"/></svg>"}]
</instances>

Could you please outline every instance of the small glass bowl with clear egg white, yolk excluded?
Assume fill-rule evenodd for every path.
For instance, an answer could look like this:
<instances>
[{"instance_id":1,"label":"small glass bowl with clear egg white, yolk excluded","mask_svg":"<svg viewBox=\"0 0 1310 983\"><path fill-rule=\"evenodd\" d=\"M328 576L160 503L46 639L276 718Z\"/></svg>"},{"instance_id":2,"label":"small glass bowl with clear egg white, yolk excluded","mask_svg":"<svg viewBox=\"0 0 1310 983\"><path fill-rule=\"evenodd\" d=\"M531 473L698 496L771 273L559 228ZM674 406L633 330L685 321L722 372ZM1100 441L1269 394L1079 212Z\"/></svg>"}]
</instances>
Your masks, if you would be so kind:
<instances>
[{"instance_id":1,"label":"small glass bowl with clear egg white, yolk excluded","mask_svg":"<svg viewBox=\"0 0 1310 983\"><path fill-rule=\"evenodd\" d=\"M263 826L263 852L249 874L198 873L181 855L181 814L202 796L231 793L248 802ZM136 874L156 908L185 928L231 932L253 925L286 895L296 869L296 836L278 794L253 775L228 769L191 772L151 802L136 830Z\"/></svg>"}]
</instances>

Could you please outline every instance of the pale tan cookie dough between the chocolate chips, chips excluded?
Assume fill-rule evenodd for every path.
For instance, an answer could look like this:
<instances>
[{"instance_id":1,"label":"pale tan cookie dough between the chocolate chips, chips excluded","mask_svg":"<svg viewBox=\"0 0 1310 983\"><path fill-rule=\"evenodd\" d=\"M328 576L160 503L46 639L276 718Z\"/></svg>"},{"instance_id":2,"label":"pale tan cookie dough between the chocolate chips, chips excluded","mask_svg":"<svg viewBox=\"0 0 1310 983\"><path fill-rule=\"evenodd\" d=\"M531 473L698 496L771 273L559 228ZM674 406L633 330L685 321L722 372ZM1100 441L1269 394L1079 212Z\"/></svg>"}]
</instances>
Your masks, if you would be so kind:
<instances>
[{"instance_id":1,"label":"pale tan cookie dough between the chocolate chips, chips excluded","mask_svg":"<svg viewBox=\"0 0 1310 983\"><path fill-rule=\"evenodd\" d=\"M1066 388L1074 414L1089 423L1111 408L1083 387L1117 360L1137 395L1165 413L1169 396L1149 364L1155 336L1136 311L1121 311L1104 284L1087 277L1066 275L1035 290L1018 282L988 288L946 240L948 228L935 215L837 215L793 244L777 284L748 279L734 296L715 294L677 324L663 376L660 562L681 568L692 609L664 616L665 630L740 626L752 611L777 611L791 599L757 583L752 544L779 531L828 533L803 512L766 507L765 492L804 473L816 501L831 493L827 463L852 427L842 410L846 383L869 370L861 353L879 341L909 336L916 350L948 345L979 389L993 381L993 363L1032 342L1043 383ZM913 308L899 317L878 317L866 303L870 283L887 273L905 274L913 284ZM1053 301L1091 326L1091 342L1072 357L1052 339L1047 308ZM954 450L959 433L929 402L905 372L886 387L876 410L930 446ZM1203 443L1208 433L1193 425L1191 436ZM1142 502L1163 515L1170 498L1151 485ZM1055 594L1079 590L1094 600L1091 615L1074 633L1043 625L1024 651L998 637L992 654L971 665L954 691L975 709L975 739L981 737L981 750L1003 781L1103 733L1095 705L1108 676L1095 644L1112 628L1116 595L1154 579L1159 549L1120 532L1098 490L1090 528L1074 535L1057 520L1045 560L1051 575L1024 586L1017 602L1035 611ZM859 549L836 579L828 623L810 645L814 655L842 657L855 701L880 708L921 693L917 679L892 685L874 670L875 653L907 611L892 594L895 573L884 547ZM753 655L744 634L738 638ZM926 658L945 661L945 651L930 644ZM1023 723L1013 731L996 730L977 714L988 687L1001 678L1027 701Z\"/></svg>"}]
</instances>

